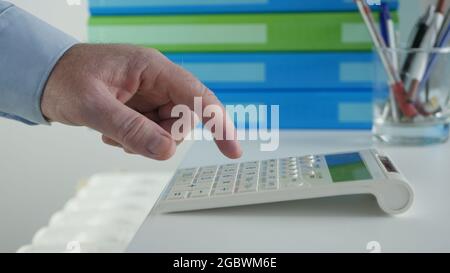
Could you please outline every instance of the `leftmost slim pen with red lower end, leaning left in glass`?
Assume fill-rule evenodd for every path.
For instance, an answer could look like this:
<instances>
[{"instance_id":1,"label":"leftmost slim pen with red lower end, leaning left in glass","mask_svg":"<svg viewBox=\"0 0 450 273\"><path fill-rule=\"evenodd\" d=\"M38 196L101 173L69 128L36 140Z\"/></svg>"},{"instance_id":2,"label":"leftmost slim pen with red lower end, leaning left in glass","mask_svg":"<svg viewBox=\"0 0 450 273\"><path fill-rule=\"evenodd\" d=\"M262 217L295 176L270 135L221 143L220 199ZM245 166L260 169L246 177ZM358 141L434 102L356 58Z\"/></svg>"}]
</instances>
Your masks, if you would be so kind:
<instances>
[{"instance_id":1,"label":"leftmost slim pen with red lower end, leaning left in glass","mask_svg":"<svg viewBox=\"0 0 450 273\"><path fill-rule=\"evenodd\" d=\"M383 51L383 48L386 48L386 44L384 43L383 38L380 37L379 33L376 30L374 19L372 17L372 13L370 12L370 8L362 0L355 0L355 2L356 5L358 6L359 12L361 13L361 16L365 24L367 25L369 34L375 44L381 62L383 63L383 66L386 70L390 87L392 89L392 92L394 93L397 103L399 104L400 110L407 117L416 116L418 113L416 107L412 103L408 102L403 82L400 79L400 76L397 74L395 68L390 63L389 58Z\"/></svg>"}]
</instances>

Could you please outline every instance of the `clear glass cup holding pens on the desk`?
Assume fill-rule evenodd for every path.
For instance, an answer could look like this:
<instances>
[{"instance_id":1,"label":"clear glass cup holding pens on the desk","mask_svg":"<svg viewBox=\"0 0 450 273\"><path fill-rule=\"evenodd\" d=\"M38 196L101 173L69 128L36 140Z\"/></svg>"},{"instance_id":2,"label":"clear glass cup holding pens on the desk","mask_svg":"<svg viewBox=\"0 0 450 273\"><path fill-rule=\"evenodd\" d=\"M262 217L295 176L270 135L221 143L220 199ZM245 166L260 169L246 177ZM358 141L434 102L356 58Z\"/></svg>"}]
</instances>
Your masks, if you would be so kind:
<instances>
[{"instance_id":1,"label":"clear glass cup holding pens on the desk","mask_svg":"<svg viewBox=\"0 0 450 273\"><path fill-rule=\"evenodd\" d=\"M448 140L450 47L377 50L374 83L373 134L378 141L419 146Z\"/></svg>"}]
</instances>

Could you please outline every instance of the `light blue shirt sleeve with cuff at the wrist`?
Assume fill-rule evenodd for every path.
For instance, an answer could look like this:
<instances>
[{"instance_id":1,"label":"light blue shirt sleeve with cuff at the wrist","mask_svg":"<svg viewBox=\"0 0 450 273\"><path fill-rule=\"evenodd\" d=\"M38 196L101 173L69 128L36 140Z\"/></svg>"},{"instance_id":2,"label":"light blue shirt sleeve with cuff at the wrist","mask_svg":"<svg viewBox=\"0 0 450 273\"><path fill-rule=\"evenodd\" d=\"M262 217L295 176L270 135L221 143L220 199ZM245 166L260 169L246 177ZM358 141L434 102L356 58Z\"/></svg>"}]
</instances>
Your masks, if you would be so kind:
<instances>
[{"instance_id":1,"label":"light blue shirt sleeve with cuff at the wrist","mask_svg":"<svg viewBox=\"0 0 450 273\"><path fill-rule=\"evenodd\" d=\"M0 0L0 116L48 124L41 97L53 67L77 41Z\"/></svg>"}]
</instances>

